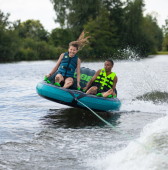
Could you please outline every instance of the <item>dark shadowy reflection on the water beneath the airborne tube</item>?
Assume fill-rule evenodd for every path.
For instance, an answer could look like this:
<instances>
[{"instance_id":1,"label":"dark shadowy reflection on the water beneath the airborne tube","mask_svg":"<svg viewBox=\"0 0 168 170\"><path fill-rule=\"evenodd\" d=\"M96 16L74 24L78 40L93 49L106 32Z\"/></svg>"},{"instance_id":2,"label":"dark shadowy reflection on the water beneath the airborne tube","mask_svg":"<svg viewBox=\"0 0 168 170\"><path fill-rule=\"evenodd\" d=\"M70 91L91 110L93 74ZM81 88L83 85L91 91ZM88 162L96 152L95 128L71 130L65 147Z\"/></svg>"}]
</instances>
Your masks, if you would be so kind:
<instances>
[{"instance_id":1,"label":"dark shadowy reflection on the water beneath the airborne tube","mask_svg":"<svg viewBox=\"0 0 168 170\"><path fill-rule=\"evenodd\" d=\"M120 114L97 112L103 119L116 126ZM92 128L103 127L106 124L92 112L78 108L50 109L46 116L40 119L42 125L54 128Z\"/></svg>"}]
</instances>

